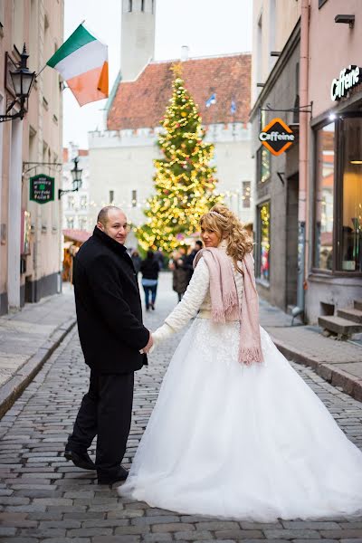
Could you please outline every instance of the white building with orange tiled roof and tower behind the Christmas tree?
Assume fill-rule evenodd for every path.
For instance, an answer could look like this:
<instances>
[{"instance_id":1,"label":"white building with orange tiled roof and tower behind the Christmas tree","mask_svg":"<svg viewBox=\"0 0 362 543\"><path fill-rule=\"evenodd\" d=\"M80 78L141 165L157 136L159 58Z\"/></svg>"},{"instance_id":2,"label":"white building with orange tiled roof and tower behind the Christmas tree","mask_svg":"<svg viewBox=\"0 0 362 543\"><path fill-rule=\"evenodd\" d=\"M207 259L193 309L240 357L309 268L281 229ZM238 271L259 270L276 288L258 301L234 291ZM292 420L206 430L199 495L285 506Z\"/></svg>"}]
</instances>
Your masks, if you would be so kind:
<instances>
[{"instance_id":1,"label":"white building with orange tiled roof and tower behind the Christmas tree","mask_svg":"<svg viewBox=\"0 0 362 543\"><path fill-rule=\"evenodd\" d=\"M93 223L99 208L112 202L125 209L132 224L145 221L142 210L153 192L153 160L160 157L159 123L172 94L171 67L180 62L150 60L154 53L155 14L156 0L123 1L121 66L107 105L107 129L89 136ZM207 131L205 140L214 143L217 190L243 222L250 223L251 55L188 59L184 48L182 77L198 104ZM206 107L213 94L215 103ZM137 241L129 237L129 243L135 246Z\"/></svg>"}]
</instances>

